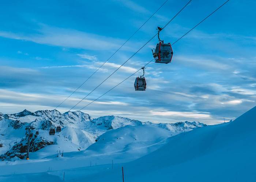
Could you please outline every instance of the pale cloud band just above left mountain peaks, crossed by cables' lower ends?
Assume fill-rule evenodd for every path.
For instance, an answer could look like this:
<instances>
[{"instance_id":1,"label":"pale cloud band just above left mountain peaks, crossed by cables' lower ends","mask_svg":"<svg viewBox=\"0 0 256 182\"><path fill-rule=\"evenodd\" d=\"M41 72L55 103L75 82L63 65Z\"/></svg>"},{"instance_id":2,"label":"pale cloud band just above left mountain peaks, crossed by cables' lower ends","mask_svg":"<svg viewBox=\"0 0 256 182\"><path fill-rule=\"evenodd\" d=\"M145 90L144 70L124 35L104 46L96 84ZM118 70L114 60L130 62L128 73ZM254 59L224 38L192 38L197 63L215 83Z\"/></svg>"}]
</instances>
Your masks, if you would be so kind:
<instances>
[{"instance_id":1,"label":"pale cloud band just above left mountain peaks, crossed by cables' lower ends","mask_svg":"<svg viewBox=\"0 0 256 182\"><path fill-rule=\"evenodd\" d=\"M59 103L61 103L66 98L65 95L49 95L49 94L34 94L34 93L23 93L10 91L5 89L0 89L0 107L2 108L0 112L4 113L14 113L24 110L25 108L31 111L41 110L41 109L53 109ZM67 111L72 106L74 106L81 98L70 97L68 102L65 102L65 106L61 106L60 110ZM84 99L78 106L74 109L80 109L92 100ZM110 105L110 106L127 106L128 103L117 102L117 101L95 101L94 104L99 105Z\"/></svg>"}]
</instances>

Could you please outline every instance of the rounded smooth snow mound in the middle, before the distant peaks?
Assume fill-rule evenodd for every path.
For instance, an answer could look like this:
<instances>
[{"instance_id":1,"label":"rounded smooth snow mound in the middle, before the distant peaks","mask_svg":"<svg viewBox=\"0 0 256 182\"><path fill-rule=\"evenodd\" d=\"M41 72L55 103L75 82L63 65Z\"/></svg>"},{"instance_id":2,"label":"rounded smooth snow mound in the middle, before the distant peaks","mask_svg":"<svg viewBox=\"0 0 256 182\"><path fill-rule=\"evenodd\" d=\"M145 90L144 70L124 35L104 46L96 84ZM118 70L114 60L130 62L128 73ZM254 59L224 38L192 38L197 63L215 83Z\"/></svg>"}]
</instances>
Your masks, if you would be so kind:
<instances>
[{"instance_id":1,"label":"rounded smooth snow mound in the middle, before the distant peaks","mask_svg":"<svg viewBox=\"0 0 256 182\"><path fill-rule=\"evenodd\" d=\"M65 157L94 156L94 161L101 164L112 159L115 162L132 161L158 149L170 136L172 132L152 125L127 125L105 132L86 150L65 153Z\"/></svg>"}]
</instances>

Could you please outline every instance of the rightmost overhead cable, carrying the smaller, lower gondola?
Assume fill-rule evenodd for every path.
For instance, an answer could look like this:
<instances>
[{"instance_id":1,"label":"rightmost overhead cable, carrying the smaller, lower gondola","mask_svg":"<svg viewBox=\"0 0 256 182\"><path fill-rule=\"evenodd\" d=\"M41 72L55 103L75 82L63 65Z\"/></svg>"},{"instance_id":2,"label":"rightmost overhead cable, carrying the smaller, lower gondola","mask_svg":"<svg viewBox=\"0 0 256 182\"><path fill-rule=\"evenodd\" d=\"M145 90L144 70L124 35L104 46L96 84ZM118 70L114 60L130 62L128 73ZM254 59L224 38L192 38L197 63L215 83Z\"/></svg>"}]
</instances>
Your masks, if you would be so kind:
<instances>
[{"instance_id":1,"label":"rightmost overhead cable, carrying the smaller, lower gondola","mask_svg":"<svg viewBox=\"0 0 256 182\"><path fill-rule=\"evenodd\" d=\"M221 8L223 5L225 5L229 0L227 0L225 3L223 3L221 6L219 6L217 9L215 9L215 11L213 11L210 15L208 15L206 18L204 18L202 21L200 21L197 25L195 25L195 27L191 28L187 33L185 33L183 36L181 36L179 39L177 39L173 44L175 44L177 41L179 41L180 39L182 39L182 37L184 37L185 35L187 35L189 32L191 32L194 28L196 28L200 23L202 23L204 20L206 20L209 16L211 16L214 12L216 12L219 8ZM173 46L172 44L172 46ZM143 67L146 67L149 63L151 63L154 59L152 59L150 62L148 62L146 65L144 65ZM138 71L140 71L142 68L140 68ZM89 106L91 103L95 102L96 100L98 100L99 98L101 98L103 95L107 94L108 92L110 92L111 90L113 90L114 88L116 88L118 85L120 85L121 83L123 83L125 80L129 79L131 76L135 75L138 71L136 71L135 73L133 73L132 75L128 76L126 79L124 79L122 82L118 83L116 86L114 86L113 88L111 88L110 90L108 90L107 92L105 92L104 94L102 94L101 96L99 96L97 99L94 99L93 101L91 101L89 104L87 104L86 106L84 106L83 108L81 108L79 111L83 110L85 107Z\"/></svg>"}]
</instances>

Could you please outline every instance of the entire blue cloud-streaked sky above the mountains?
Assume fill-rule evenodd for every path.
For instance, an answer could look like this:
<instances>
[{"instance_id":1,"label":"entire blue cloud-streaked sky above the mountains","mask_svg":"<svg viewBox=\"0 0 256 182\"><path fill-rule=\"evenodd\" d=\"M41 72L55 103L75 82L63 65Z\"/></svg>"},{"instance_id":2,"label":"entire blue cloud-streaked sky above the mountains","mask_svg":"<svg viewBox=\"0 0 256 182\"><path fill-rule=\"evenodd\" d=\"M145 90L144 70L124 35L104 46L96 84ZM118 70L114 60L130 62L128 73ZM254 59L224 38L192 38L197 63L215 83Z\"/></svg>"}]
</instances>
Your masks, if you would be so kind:
<instances>
[{"instance_id":1,"label":"entire blue cloud-streaked sky above the mountains","mask_svg":"<svg viewBox=\"0 0 256 182\"><path fill-rule=\"evenodd\" d=\"M0 112L54 109L164 1L5 1L0 7ZM187 1L169 0L58 110L65 112L125 62ZM162 32L174 42L223 0L192 0ZM83 111L153 122L234 119L255 106L256 2L230 0L173 46L170 64L146 67L147 90L135 76ZM79 110L153 57L150 41L74 110Z\"/></svg>"}]
</instances>

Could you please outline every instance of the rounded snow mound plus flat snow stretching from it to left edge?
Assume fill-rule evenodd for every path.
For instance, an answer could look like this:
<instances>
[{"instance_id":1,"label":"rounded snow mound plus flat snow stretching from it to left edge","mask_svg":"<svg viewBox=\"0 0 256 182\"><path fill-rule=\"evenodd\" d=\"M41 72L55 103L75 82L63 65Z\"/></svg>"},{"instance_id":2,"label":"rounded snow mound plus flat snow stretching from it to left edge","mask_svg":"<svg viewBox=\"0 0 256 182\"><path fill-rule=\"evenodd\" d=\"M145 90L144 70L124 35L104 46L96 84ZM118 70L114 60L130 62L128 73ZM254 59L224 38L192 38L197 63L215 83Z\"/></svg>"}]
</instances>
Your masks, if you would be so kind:
<instances>
[{"instance_id":1,"label":"rounded snow mound plus flat snow stretching from it to left edge","mask_svg":"<svg viewBox=\"0 0 256 182\"><path fill-rule=\"evenodd\" d=\"M163 128L148 124L140 126L125 126L116 130L109 130L98 138L98 141L79 152L64 153L64 157L56 157L56 153L44 159L33 159L30 161L17 160L0 162L2 174L36 173L44 172L49 166L54 170L70 169L92 165L129 162L143 155L157 150L166 143L166 139L172 132ZM48 153L50 145L32 155L44 155ZM54 151L56 148L54 149ZM41 158L37 157L37 158Z\"/></svg>"}]
</instances>

